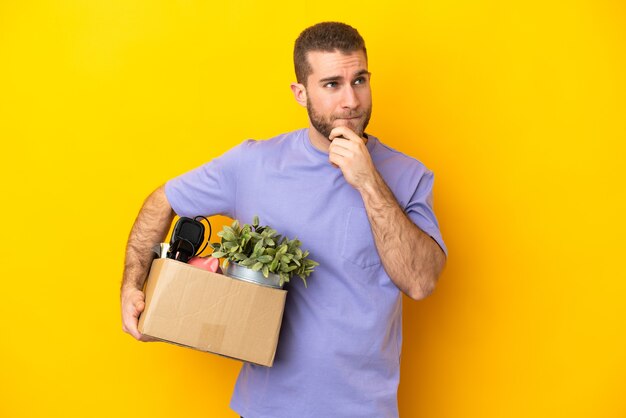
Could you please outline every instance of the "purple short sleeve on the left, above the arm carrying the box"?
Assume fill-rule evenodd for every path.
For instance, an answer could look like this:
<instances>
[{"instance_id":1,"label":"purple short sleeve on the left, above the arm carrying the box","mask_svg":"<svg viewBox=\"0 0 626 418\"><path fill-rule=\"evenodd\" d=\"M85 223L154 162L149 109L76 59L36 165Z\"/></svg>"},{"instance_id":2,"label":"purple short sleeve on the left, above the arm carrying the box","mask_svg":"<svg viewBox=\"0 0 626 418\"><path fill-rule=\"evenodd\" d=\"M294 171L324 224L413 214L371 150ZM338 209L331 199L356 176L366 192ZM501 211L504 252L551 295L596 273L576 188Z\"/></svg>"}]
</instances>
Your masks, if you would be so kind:
<instances>
[{"instance_id":1,"label":"purple short sleeve on the left, above the arm carrying the box","mask_svg":"<svg viewBox=\"0 0 626 418\"><path fill-rule=\"evenodd\" d=\"M236 217L237 174L244 144L165 183L165 195L177 215Z\"/></svg>"}]
</instances>

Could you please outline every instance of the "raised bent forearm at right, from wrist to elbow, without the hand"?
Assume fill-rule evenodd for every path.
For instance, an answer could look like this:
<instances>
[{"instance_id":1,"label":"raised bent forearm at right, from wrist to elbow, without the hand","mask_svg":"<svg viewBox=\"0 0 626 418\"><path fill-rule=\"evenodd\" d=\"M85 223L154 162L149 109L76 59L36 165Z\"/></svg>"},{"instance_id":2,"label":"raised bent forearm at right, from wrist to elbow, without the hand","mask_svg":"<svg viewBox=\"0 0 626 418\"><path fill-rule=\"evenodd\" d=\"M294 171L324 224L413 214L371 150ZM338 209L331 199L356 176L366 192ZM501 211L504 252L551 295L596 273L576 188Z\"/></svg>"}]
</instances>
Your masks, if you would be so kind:
<instances>
[{"instance_id":1,"label":"raised bent forearm at right, from wrist to elbow, without the hand","mask_svg":"<svg viewBox=\"0 0 626 418\"><path fill-rule=\"evenodd\" d=\"M385 271L409 297L425 298L435 288L445 254L406 216L377 171L359 191Z\"/></svg>"}]
</instances>

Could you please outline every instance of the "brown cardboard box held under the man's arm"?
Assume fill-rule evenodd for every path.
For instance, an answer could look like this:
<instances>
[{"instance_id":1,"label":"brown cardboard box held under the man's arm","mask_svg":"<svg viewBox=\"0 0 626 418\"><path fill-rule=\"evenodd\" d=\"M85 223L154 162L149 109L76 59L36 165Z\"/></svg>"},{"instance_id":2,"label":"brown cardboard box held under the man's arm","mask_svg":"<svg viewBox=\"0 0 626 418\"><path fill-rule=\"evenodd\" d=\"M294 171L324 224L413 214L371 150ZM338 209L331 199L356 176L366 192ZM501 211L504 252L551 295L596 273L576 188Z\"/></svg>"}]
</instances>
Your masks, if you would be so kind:
<instances>
[{"instance_id":1,"label":"brown cardboard box held under the man's arm","mask_svg":"<svg viewBox=\"0 0 626 418\"><path fill-rule=\"evenodd\" d=\"M139 331L166 342L272 366L287 292L167 258L152 262Z\"/></svg>"}]
</instances>

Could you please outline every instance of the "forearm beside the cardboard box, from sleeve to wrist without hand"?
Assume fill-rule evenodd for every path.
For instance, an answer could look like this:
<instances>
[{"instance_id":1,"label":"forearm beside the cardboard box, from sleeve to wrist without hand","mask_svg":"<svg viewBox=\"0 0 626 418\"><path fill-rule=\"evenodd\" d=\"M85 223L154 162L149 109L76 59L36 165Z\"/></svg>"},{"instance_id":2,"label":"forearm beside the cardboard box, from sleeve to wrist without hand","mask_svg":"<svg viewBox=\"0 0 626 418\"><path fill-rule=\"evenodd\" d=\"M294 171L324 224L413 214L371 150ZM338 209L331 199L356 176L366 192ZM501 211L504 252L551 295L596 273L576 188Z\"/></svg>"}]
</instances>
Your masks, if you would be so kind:
<instances>
[{"instance_id":1,"label":"forearm beside the cardboard box, from sleeve to wrist without hand","mask_svg":"<svg viewBox=\"0 0 626 418\"><path fill-rule=\"evenodd\" d=\"M163 187L145 200L128 238L122 291L127 287L143 288L154 258L152 247L163 240L174 215Z\"/></svg>"}]
</instances>

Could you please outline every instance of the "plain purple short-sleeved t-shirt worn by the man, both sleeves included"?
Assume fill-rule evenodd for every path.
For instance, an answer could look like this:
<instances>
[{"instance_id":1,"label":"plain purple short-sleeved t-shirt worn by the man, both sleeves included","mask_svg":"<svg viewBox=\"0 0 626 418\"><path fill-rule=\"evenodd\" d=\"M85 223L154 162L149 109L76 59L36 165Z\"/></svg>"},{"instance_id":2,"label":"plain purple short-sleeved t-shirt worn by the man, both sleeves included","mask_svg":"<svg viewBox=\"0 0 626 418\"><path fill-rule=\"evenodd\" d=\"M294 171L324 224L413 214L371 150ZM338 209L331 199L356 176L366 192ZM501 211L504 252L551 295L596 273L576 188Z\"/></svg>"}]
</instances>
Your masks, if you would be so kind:
<instances>
[{"instance_id":1,"label":"plain purple short-sleeved t-shirt worn by the man, both sleeves included","mask_svg":"<svg viewBox=\"0 0 626 418\"><path fill-rule=\"evenodd\" d=\"M379 258L361 195L301 129L244 141L170 180L181 216L222 214L297 237L320 263L286 285L274 365L244 363L231 408L246 418L397 417L402 297ZM367 149L400 207L446 252L433 173L369 135Z\"/></svg>"}]
</instances>

